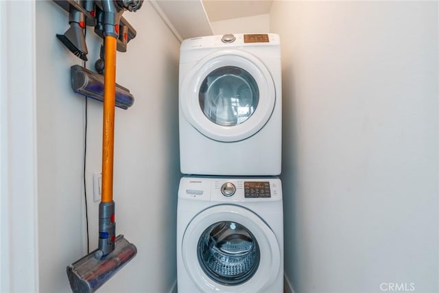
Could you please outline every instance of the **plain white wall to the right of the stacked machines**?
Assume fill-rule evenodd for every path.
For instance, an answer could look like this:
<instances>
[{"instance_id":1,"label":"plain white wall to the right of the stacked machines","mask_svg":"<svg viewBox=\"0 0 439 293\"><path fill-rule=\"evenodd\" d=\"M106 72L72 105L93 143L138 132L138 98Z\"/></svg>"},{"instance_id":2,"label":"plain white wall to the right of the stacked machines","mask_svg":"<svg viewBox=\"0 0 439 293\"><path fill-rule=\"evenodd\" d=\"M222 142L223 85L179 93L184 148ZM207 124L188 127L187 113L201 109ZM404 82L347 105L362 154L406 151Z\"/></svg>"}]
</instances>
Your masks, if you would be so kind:
<instances>
[{"instance_id":1,"label":"plain white wall to the right of the stacked machines","mask_svg":"<svg viewBox=\"0 0 439 293\"><path fill-rule=\"evenodd\" d=\"M295 292L438 292L438 3L274 1L270 29Z\"/></svg>"}]
</instances>

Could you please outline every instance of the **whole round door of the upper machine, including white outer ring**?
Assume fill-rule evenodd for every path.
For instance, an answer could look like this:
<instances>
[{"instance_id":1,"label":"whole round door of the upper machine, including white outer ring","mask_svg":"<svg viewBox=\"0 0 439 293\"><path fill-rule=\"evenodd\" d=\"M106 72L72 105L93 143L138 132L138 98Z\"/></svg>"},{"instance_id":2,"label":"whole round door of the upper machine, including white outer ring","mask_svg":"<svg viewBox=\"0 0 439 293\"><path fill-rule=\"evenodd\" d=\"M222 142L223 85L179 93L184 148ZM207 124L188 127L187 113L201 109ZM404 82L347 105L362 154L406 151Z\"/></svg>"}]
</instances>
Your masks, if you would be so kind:
<instances>
[{"instance_id":1,"label":"whole round door of the upper machine, including white outer ring","mask_svg":"<svg viewBox=\"0 0 439 293\"><path fill-rule=\"evenodd\" d=\"M200 60L180 88L180 107L189 123L216 141L241 141L270 119L274 82L255 56L217 51Z\"/></svg>"}]
</instances>

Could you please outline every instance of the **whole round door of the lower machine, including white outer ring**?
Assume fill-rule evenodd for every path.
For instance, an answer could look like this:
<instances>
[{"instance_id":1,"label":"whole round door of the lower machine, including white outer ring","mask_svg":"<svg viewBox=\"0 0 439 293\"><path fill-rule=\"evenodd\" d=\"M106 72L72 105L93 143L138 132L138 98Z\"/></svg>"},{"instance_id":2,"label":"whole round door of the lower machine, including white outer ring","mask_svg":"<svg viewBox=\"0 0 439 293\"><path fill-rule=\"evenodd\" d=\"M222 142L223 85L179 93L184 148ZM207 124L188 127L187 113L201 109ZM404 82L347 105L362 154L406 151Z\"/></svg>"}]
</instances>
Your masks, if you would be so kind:
<instances>
[{"instance_id":1,"label":"whole round door of the lower machine, including white outer ring","mask_svg":"<svg viewBox=\"0 0 439 293\"><path fill-rule=\"evenodd\" d=\"M210 207L191 220L182 259L202 292L264 292L281 266L270 227L252 211L231 204Z\"/></svg>"}]
</instances>

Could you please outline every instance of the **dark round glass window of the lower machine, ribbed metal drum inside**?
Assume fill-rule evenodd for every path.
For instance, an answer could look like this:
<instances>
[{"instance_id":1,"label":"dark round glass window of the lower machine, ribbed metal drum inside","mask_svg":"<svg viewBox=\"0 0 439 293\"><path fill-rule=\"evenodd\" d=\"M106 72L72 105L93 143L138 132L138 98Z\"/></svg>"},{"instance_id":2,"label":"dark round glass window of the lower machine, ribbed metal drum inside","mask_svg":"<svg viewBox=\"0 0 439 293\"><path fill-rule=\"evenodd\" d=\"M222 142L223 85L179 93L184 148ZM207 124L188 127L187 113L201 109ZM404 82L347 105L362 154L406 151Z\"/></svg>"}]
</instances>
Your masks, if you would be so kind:
<instances>
[{"instance_id":1,"label":"dark round glass window of the lower machine, ribbed metal drum inside","mask_svg":"<svg viewBox=\"0 0 439 293\"><path fill-rule=\"evenodd\" d=\"M259 266L257 240L245 226L235 222L217 222L206 228L197 251L202 270L224 285L246 282Z\"/></svg>"}]
</instances>

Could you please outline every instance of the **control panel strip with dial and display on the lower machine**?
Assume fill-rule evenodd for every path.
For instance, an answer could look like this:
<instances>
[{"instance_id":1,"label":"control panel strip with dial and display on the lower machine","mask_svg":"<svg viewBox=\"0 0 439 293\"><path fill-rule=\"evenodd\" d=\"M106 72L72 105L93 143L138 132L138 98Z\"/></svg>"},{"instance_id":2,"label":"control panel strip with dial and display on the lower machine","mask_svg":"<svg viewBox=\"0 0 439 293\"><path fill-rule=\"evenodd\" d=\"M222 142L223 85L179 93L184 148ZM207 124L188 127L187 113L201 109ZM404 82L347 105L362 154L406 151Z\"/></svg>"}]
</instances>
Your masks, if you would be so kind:
<instances>
[{"instance_id":1,"label":"control panel strip with dial and display on the lower machine","mask_svg":"<svg viewBox=\"0 0 439 293\"><path fill-rule=\"evenodd\" d=\"M272 201L282 198L281 180L268 178L222 178L185 176L178 197L212 201Z\"/></svg>"}]
</instances>

